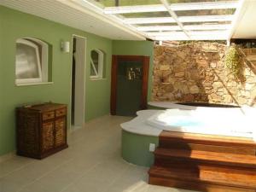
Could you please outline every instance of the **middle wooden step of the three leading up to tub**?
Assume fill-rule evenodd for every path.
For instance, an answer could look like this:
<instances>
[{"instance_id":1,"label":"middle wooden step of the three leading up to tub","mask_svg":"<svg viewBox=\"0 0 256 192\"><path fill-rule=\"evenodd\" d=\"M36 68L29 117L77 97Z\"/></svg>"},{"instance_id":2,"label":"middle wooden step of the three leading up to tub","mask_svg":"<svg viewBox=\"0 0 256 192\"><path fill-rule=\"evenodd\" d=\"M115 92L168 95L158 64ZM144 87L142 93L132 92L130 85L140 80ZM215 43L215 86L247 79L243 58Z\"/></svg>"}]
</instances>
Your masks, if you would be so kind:
<instances>
[{"instance_id":1,"label":"middle wooden step of the three leading up to tub","mask_svg":"<svg viewBox=\"0 0 256 192\"><path fill-rule=\"evenodd\" d=\"M156 148L155 160L187 160L213 165L240 166L256 169L256 156L244 154L225 154L209 151Z\"/></svg>"}]
</instances>

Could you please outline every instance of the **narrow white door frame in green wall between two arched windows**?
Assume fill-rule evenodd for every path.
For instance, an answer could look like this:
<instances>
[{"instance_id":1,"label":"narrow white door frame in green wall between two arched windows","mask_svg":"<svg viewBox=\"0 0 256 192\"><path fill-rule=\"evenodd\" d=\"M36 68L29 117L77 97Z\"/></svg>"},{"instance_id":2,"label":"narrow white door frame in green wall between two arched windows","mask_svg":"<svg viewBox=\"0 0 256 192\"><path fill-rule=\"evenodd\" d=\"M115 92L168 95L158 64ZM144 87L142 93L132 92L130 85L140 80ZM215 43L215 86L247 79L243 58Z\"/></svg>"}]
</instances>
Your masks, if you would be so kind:
<instances>
[{"instance_id":1,"label":"narrow white door frame in green wall between two arched windows","mask_svg":"<svg viewBox=\"0 0 256 192\"><path fill-rule=\"evenodd\" d=\"M75 80L75 102L74 102L74 114L75 114L75 117L74 117L74 125L72 125L72 79L73 79L73 74L72 74L72 67L73 67L73 38L77 38L77 39L83 39L84 41L84 55L81 55L82 58L82 61L84 63L84 65L80 66L80 70L81 72L81 75L82 75L82 78L83 81L76 81ZM73 34L72 35L72 57L71 57L71 60L72 60L72 65L70 67L70 74L71 74L71 90L70 90L70 127L73 128L72 131L74 131L76 128L80 128L84 125L84 122L85 122L85 82L86 82L86 45L87 45L87 38L83 37L83 36L79 36L79 35L76 35L76 34ZM77 64L77 63L76 63ZM76 65L77 67L77 65ZM76 70L77 71L77 70ZM77 86L77 84L79 84L79 86ZM80 87L80 88L83 88L83 89L77 89L77 87ZM76 102L76 96L79 96L79 101ZM78 108L79 106L79 108ZM77 118L76 119L76 114L79 114L79 119ZM79 121L79 122L78 122Z\"/></svg>"}]
</instances>

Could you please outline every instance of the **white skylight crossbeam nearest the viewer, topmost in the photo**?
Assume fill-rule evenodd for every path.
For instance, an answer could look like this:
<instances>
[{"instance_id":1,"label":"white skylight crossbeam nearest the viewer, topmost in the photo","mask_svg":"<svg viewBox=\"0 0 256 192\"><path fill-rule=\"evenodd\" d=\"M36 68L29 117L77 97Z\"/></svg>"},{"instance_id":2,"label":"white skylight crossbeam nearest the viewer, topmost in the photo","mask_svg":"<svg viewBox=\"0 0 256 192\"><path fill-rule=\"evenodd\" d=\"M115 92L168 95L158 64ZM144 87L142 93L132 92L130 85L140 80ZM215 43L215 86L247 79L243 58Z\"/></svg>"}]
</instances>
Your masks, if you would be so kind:
<instances>
[{"instance_id":1,"label":"white skylight crossbeam nearest the viewer, topmost in the photo","mask_svg":"<svg viewBox=\"0 0 256 192\"><path fill-rule=\"evenodd\" d=\"M173 11L182 10L201 10L201 9L236 9L237 1L222 2L198 2L198 3L172 3L169 8ZM135 6L119 6L107 7L104 9L105 14L131 14L145 12L164 12L166 8L162 4L153 5L135 5Z\"/></svg>"}]
</instances>

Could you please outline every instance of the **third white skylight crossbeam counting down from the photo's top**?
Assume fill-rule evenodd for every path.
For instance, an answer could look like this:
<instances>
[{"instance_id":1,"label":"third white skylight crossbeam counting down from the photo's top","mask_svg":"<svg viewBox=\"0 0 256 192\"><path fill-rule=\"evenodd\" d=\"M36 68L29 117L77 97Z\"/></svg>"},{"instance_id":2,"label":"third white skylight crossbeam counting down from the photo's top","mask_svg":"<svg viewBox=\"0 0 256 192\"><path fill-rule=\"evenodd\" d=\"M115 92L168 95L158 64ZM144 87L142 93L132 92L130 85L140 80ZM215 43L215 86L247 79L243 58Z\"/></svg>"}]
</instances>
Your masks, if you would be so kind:
<instances>
[{"instance_id":1,"label":"third white skylight crossbeam counting down from the photo's top","mask_svg":"<svg viewBox=\"0 0 256 192\"><path fill-rule=\"evenodd\" d=\"M228 30L230 29L230 25L188 25L184 26L184 29L188 31L201 31L201 30ZM137 30L140 32L155 32L155 31L180 31L181 28L179 26L137 26Z\"/></svg>"}]
</instances>

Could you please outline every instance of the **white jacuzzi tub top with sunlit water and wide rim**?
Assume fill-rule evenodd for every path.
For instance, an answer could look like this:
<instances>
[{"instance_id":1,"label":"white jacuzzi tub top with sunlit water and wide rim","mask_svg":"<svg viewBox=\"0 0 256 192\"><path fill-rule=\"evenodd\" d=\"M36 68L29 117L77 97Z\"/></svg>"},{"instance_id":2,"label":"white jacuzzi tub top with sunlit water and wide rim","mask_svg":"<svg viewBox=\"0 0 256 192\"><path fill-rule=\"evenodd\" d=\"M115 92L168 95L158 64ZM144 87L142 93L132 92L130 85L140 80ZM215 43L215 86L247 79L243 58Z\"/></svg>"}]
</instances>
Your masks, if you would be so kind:
<instances>
[{"instance_id":1,"label":"white jacuzzi tub top with sunlit water and wide rim","mask_svg":"<svg viewBox=\"0 0 256 192\"><path fill-rule=\"evenodd\" d=\"M230 137L248 137L256 141L255 108L204 108L139 111L137 118L122 124L126 131L140 134L150 131L179 131ZM143 127L143 131L140 130ZM157 131L158 130L158 131Z\"/></svg>"}]
</instances>

